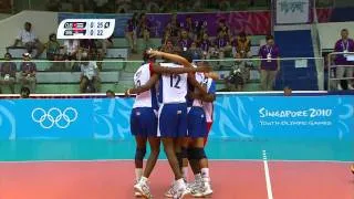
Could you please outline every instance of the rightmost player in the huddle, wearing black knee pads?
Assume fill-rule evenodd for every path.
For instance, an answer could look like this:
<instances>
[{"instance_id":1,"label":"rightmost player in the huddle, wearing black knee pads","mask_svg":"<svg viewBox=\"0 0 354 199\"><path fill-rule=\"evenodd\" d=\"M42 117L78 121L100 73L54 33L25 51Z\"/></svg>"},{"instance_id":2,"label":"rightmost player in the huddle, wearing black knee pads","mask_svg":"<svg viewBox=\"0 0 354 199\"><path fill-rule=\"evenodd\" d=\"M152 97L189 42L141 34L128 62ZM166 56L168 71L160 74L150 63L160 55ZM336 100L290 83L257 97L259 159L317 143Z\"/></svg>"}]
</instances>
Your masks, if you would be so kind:
<instances>
[{"instance_id":1,"label":"rightmost player in the huddle, wearing black knee pads","mask_svg":"<svg viewBox=\"0 0 354 199\"><path fill-rule=\"evenodd\" d=\"M188 53L184 53L183 55L188 60L188 62L192 62L191 57L188 56ZM215 82L211 77L217 80L218 75L215 73L196 73L195 74L197 85L205 84L205 86L208 88L209 94L202 93L202 95L198 96L199 97L198 100L188 101L187 103L188 104L188 137L192 135L194 138L191 139L191 142L188 138L183 140L183 147L180 148L179 153L177 153L177 159L179 161L179 166L181 168L181 174L185 181L187 181L187 176L188 176L187 157L188 157L188 154L190 156L190 153L191 153L192 157L190 157L189 159L190 159L190 166L192 167L196 180L192 184L188 185L188 189L191 190L192 195L196 197L204 197L212 193L211 186L210 186L208 160L204 153L205 137L207 137L209 128L207 128L206 114L202 107L204 104L211 104L212 106L212 101L215 100ZM200 91L200 90L194 90L195 85L196 84L189 84L188 87L190 87L191 91L197 91L197 92ZM198 93L201 94L200 92ZM192 94L192 93L189 93L189 94ZM205 102L202 102L201 100L204 100ZM208 113L210 115L210 112ZM208 121L210 119L208 118ZM204 174L202 177L200 174L201 170ZM165 193L165 197L167 198L173 197L173 188L170 188Z\"/></svg>"}]
</instances>

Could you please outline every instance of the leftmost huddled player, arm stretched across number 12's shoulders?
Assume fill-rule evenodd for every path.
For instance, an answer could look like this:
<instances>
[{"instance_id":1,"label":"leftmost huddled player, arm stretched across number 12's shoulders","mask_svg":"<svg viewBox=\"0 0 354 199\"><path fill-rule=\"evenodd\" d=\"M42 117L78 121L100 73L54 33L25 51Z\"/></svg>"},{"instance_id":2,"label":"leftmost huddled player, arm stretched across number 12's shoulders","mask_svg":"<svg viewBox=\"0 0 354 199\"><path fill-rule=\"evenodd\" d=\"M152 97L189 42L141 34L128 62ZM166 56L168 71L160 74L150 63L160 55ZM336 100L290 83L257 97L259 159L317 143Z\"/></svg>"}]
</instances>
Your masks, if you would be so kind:
<instances>
[{"instance_id":1,"label":"leftmost huddled player, arm stretched across number 12's shoulders","mask_svg":"<svg viewBox=\"0 0 354 199\"><path fill-rule=\"evenodd\" d=\"M173 61L185 63L185 60L180 56L173 54L164 53L162 54ZM162 67L159 65L149 63L142 65L134 75L135 88L128 90L126 94L138 94L132 111L131 125L132 133L136 137L137 150L136 163L138 160L138 169L143 168L143 159L145 150L139 150L138 148L145 149L146 137L148 137L149 144L152 146L152 155L147 160L146 168L144 170L143 177L139 178L139 175L136 175L138 184L134 186L135 190L142 193L146 198L152 198L149 188L147 186L147 179L156 164L158 153L159 153L159 139L156 136L156 124L154 114L155 108L157 107L156 98L154 97L156 92L154 91L154 85L158 80L158 74L181 74L187 72L196 72L195 69L174 69L175 65L170 64ZM207 70L199 69L199 70ZM173 74L171 74L173 75ZM140 147L139 147L140 146ZM154 151L154 153L153 153ZM140 153L140 154L138 154ZM137 159L138 157L138 159Z\"/></svg>"}]
</instances>

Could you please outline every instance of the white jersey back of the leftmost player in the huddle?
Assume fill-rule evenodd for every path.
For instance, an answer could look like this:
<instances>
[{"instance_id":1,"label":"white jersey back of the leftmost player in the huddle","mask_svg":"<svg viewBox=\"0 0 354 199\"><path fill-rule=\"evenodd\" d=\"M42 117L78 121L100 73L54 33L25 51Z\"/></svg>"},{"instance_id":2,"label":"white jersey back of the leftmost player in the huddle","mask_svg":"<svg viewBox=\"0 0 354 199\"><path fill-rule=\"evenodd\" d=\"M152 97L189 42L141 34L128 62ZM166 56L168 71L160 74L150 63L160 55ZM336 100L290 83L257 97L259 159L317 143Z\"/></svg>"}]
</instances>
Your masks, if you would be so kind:
<instances>
[{"instance_id":1,"label":"white jersey back of the leftmost player in the huddle","mask_svg":"<svg viewBox=\"0 0 354 199\"><path fill-rule=\"evenodd\" d=\"M143 64L134 74L134 84L136 87L146 84L152 76L150 64ZM152 90L136 95L135 107L153 107L157 108L157 98L155 86Z\"/></svg>"}]
</instances>

